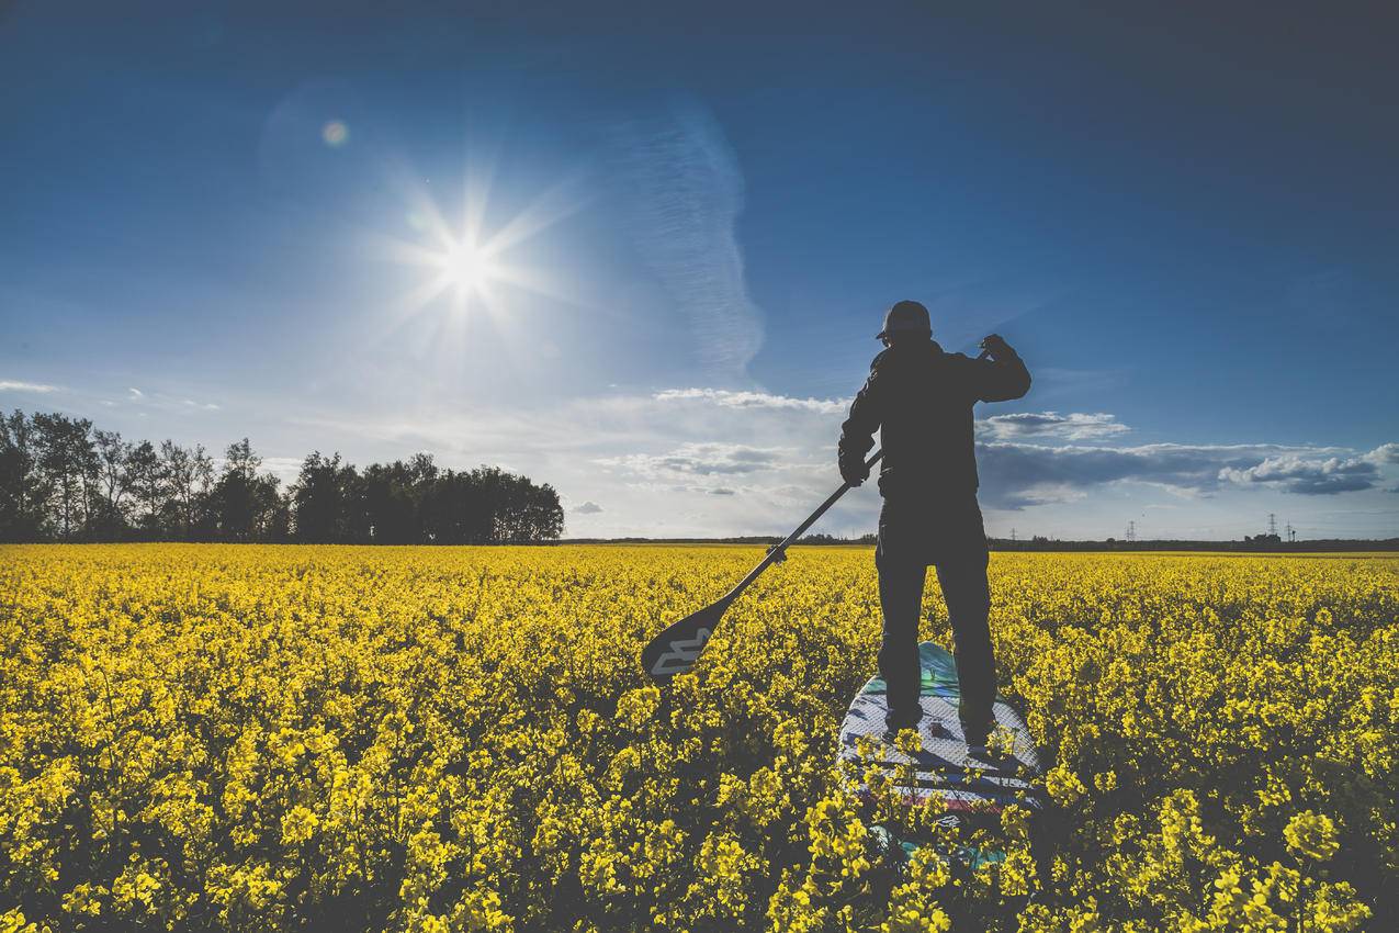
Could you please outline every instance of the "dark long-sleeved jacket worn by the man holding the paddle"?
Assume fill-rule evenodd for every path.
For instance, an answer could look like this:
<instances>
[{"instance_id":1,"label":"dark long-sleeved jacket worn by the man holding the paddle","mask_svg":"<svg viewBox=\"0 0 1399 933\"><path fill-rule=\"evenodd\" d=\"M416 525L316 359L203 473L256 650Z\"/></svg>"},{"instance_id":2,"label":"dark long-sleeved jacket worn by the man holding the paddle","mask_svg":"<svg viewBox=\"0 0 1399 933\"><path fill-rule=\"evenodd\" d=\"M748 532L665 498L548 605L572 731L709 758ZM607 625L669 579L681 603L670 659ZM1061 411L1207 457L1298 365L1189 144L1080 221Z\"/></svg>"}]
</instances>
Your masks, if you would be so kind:
<instances>
[{"instance_id":1,"label":"dark long-sleeved jacket worn by the man holding the paddle","mask_svg":"<svg viewBox=\"0 0 1399 933\"><path fill-rule=\"evenodd\" d=\"M995 361L943 352L936 341L895 344L874 357L841 425L841 463L860 460L880 431L879 490L888 498L957 499L977 494L972 406L1030 390L1014 351Z\"/></svg>"}]
</instances>

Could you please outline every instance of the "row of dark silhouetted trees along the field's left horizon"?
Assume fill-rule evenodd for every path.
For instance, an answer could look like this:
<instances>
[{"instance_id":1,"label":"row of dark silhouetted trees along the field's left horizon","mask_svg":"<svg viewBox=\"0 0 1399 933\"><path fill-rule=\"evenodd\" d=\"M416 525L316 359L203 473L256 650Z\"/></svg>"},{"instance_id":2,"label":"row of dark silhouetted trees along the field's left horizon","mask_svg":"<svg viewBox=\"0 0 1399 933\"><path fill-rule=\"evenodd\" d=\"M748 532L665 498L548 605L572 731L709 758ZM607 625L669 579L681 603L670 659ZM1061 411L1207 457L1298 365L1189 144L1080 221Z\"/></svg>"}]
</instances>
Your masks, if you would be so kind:
<instances>
[{"instance_id":1,"label":"row of dark silhouetted trees along the field's left horizon","mask_svg":"<svg viewBox=\"0 0 1399 933\"><path fill-rule=\"evenodd\" d=\"M248 438L221 462L196 445L126 441L87 418L0 414L0 541L502 544L557 540L547 483L428 453L355 469L308 455L285 490Z\"/></svg>"}]
</instances>

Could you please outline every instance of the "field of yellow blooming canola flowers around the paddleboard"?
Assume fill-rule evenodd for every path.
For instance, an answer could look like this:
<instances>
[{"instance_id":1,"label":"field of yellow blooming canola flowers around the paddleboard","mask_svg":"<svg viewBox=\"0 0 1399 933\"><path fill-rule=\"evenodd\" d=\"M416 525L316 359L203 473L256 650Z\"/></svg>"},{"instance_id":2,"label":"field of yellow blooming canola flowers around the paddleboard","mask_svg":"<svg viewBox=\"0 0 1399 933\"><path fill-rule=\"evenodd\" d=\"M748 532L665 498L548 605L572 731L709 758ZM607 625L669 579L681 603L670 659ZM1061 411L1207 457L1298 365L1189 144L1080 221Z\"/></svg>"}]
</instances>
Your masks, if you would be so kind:
<instances>
[{"instance_id":1,"label":"field of yellow blooming canola flowers around the paddleboard","mask_svg":"<svg viewBox=\"0 0 1399 933\"><path fill-rule=\"evenodd\" d=\"M995 554L1053 806L975 870L832 764L869 548L793 550L646 681L760 557L0 548L0 930L1399 925L1395 557Z\"/></svg>"}]
</instances>

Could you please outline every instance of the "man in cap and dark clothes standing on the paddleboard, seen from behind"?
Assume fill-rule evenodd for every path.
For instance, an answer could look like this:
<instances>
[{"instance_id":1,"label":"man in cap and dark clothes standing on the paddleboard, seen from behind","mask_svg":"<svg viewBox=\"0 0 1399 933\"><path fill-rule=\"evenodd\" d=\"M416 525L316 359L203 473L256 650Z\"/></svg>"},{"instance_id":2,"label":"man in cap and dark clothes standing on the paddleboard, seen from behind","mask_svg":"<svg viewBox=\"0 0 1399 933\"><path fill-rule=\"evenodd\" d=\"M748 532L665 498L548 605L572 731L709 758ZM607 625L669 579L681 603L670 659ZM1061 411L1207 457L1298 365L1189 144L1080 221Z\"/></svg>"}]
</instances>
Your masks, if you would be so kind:
<instances>
[{"instance_id":1,"label":"man in cap and dark clothes standing on the paddleboard, seen from behind","mask_svg":"<svg viewBox=\"0 0 1399 933\"><path fill-rule=\"evenodd\" d=\"M977 505L972 406L1018 399L1030 372L997 334L981 341L977 359L947 354L933 340L928 308L901 301L877 334L886 350L870 364L865 387L841 427L841 476L851 485L869 478L865 455L881 431L884 459L879 488L879 596L884 610L880 676L888 687L888 732L918 729L918 620L928 565L951 615L961 719L967 744L985 751L995 726L996 660L986 618L986 533ZM933 723L935 734L937 723Z\"/></svg>"}]
</instances>

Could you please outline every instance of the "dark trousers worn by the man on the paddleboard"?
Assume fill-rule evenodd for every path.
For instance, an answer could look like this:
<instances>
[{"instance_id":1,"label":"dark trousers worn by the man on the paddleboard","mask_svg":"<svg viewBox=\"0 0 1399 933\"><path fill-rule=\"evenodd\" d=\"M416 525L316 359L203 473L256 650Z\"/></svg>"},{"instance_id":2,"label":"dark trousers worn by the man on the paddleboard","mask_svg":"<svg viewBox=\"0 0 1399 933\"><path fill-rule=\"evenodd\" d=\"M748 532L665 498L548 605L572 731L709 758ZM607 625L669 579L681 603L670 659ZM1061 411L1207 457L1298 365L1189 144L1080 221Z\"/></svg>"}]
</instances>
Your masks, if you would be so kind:
<instances>
[{"instance_id":1,"label":"dark trousers worn by the man on the paddleboard","mask_svg":"<svg viewBox=\"0 0 1399 933\"><path fill-rule=\"evenodd\" d=\"M884 501L874 565L884 610L879 669L888 688L891 725L911 725L922 716L918 622L929 565L937 568L937 582L951 615L963 726L979 732L993 722L996 659L986 622L990 614L988 560L975 498L953 504Z\"/></svg>"}]
</instances>

